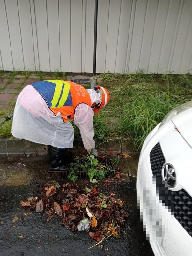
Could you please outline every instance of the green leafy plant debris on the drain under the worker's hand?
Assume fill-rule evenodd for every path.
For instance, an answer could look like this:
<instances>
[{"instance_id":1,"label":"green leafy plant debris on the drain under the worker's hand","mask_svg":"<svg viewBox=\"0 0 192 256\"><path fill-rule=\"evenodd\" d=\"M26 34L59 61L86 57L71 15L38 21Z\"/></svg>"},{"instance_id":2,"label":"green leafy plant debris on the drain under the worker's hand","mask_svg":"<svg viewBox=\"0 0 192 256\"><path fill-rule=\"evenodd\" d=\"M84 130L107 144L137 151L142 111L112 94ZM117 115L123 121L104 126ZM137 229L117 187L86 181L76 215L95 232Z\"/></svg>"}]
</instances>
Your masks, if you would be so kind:
<instances>
[{"instance_id":1,"label":"green leafy plant debris on the drain under the worker's hand","mask_svg":"<svg viewBox=\"0 0 192 256\"><path fill-rule=\"evenodd\" d=\"M76 156L75 159L75 162L71 163L70 173L68 175L68 179L73 182L78 179L80 170L87 172L90 182L92 183L97 183L97 179L104 179L107 172L112 171L110 167L100 164L93 155Z\"/></svg>"}]
</instances>

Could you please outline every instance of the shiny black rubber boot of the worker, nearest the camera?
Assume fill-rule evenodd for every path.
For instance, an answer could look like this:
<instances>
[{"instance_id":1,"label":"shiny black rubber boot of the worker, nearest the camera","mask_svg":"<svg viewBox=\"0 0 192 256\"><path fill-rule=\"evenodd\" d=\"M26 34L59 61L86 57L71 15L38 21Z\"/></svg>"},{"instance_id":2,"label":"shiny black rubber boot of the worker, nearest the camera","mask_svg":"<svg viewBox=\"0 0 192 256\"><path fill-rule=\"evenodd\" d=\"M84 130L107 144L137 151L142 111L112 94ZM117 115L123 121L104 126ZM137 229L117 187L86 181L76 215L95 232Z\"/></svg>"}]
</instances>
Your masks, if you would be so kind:
<instances>
[{"instance_id":1,"label":"shiny black rubber boot of the worker, nearest the camera","mask_svg":"<svg viewBox=\"0 0 192 256\"><path fill-rule=\"evenodd\" d=\"M49 151L49 172L66 172L70 165L64 161L63 156L67 149L59 149L48 145Z\"/></svg>"}]
</instances>

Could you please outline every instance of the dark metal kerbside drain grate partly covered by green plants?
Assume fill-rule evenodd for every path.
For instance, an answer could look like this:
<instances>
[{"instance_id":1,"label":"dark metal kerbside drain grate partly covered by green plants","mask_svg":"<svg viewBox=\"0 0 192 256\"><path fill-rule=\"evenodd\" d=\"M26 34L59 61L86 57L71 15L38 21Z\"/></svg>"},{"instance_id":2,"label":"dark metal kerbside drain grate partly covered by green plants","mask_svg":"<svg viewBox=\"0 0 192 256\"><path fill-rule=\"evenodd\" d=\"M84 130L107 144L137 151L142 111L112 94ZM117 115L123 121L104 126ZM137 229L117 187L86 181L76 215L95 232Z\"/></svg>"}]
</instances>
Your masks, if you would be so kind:
<instances>
[{"instance_id":1,"label":"dark metal kerbside drain grate partly covered by green plants","mask_svg":"<svg viewBox=\"0 0 192 256\"><path fill-rule=\"evenodd\" d=\"M107 177L113 177L114 176L114 171L113 171L113 163L111 159L108 159L107 157L105 158L99 158L98 162L108 168L110 168L111 170L109 172L107 172ZM88 172L88 171L87 171ZM86 171L82 171L81 168L79 168L79 173L78 173L78 177L79 179L89 179L88 174ZM62 172L60 173L60 178L61 179L67 179L69 175L69 171L67 172Z\"/></svg>"}]
</instances>

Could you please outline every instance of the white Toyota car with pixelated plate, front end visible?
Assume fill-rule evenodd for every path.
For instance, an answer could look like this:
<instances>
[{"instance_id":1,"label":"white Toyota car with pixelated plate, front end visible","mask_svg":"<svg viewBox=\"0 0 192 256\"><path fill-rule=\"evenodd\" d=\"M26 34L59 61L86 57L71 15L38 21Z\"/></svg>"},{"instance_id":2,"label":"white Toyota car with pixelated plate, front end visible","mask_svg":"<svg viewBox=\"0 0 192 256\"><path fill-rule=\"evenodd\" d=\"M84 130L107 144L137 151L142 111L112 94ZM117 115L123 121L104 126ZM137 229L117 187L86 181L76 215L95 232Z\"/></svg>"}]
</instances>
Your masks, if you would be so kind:
<instances>
[{"instance_id":1,"label":"white Toyota car with pixelated plate, front end visible","mask_svg":"<svg viewBox=\"0 0 192 256\"><path fill-rule=\"evenodd\" d=\"M192 101L170 111L145 139L137 202L154 255L192 255Z\"/></svg>"}]
</instances>

